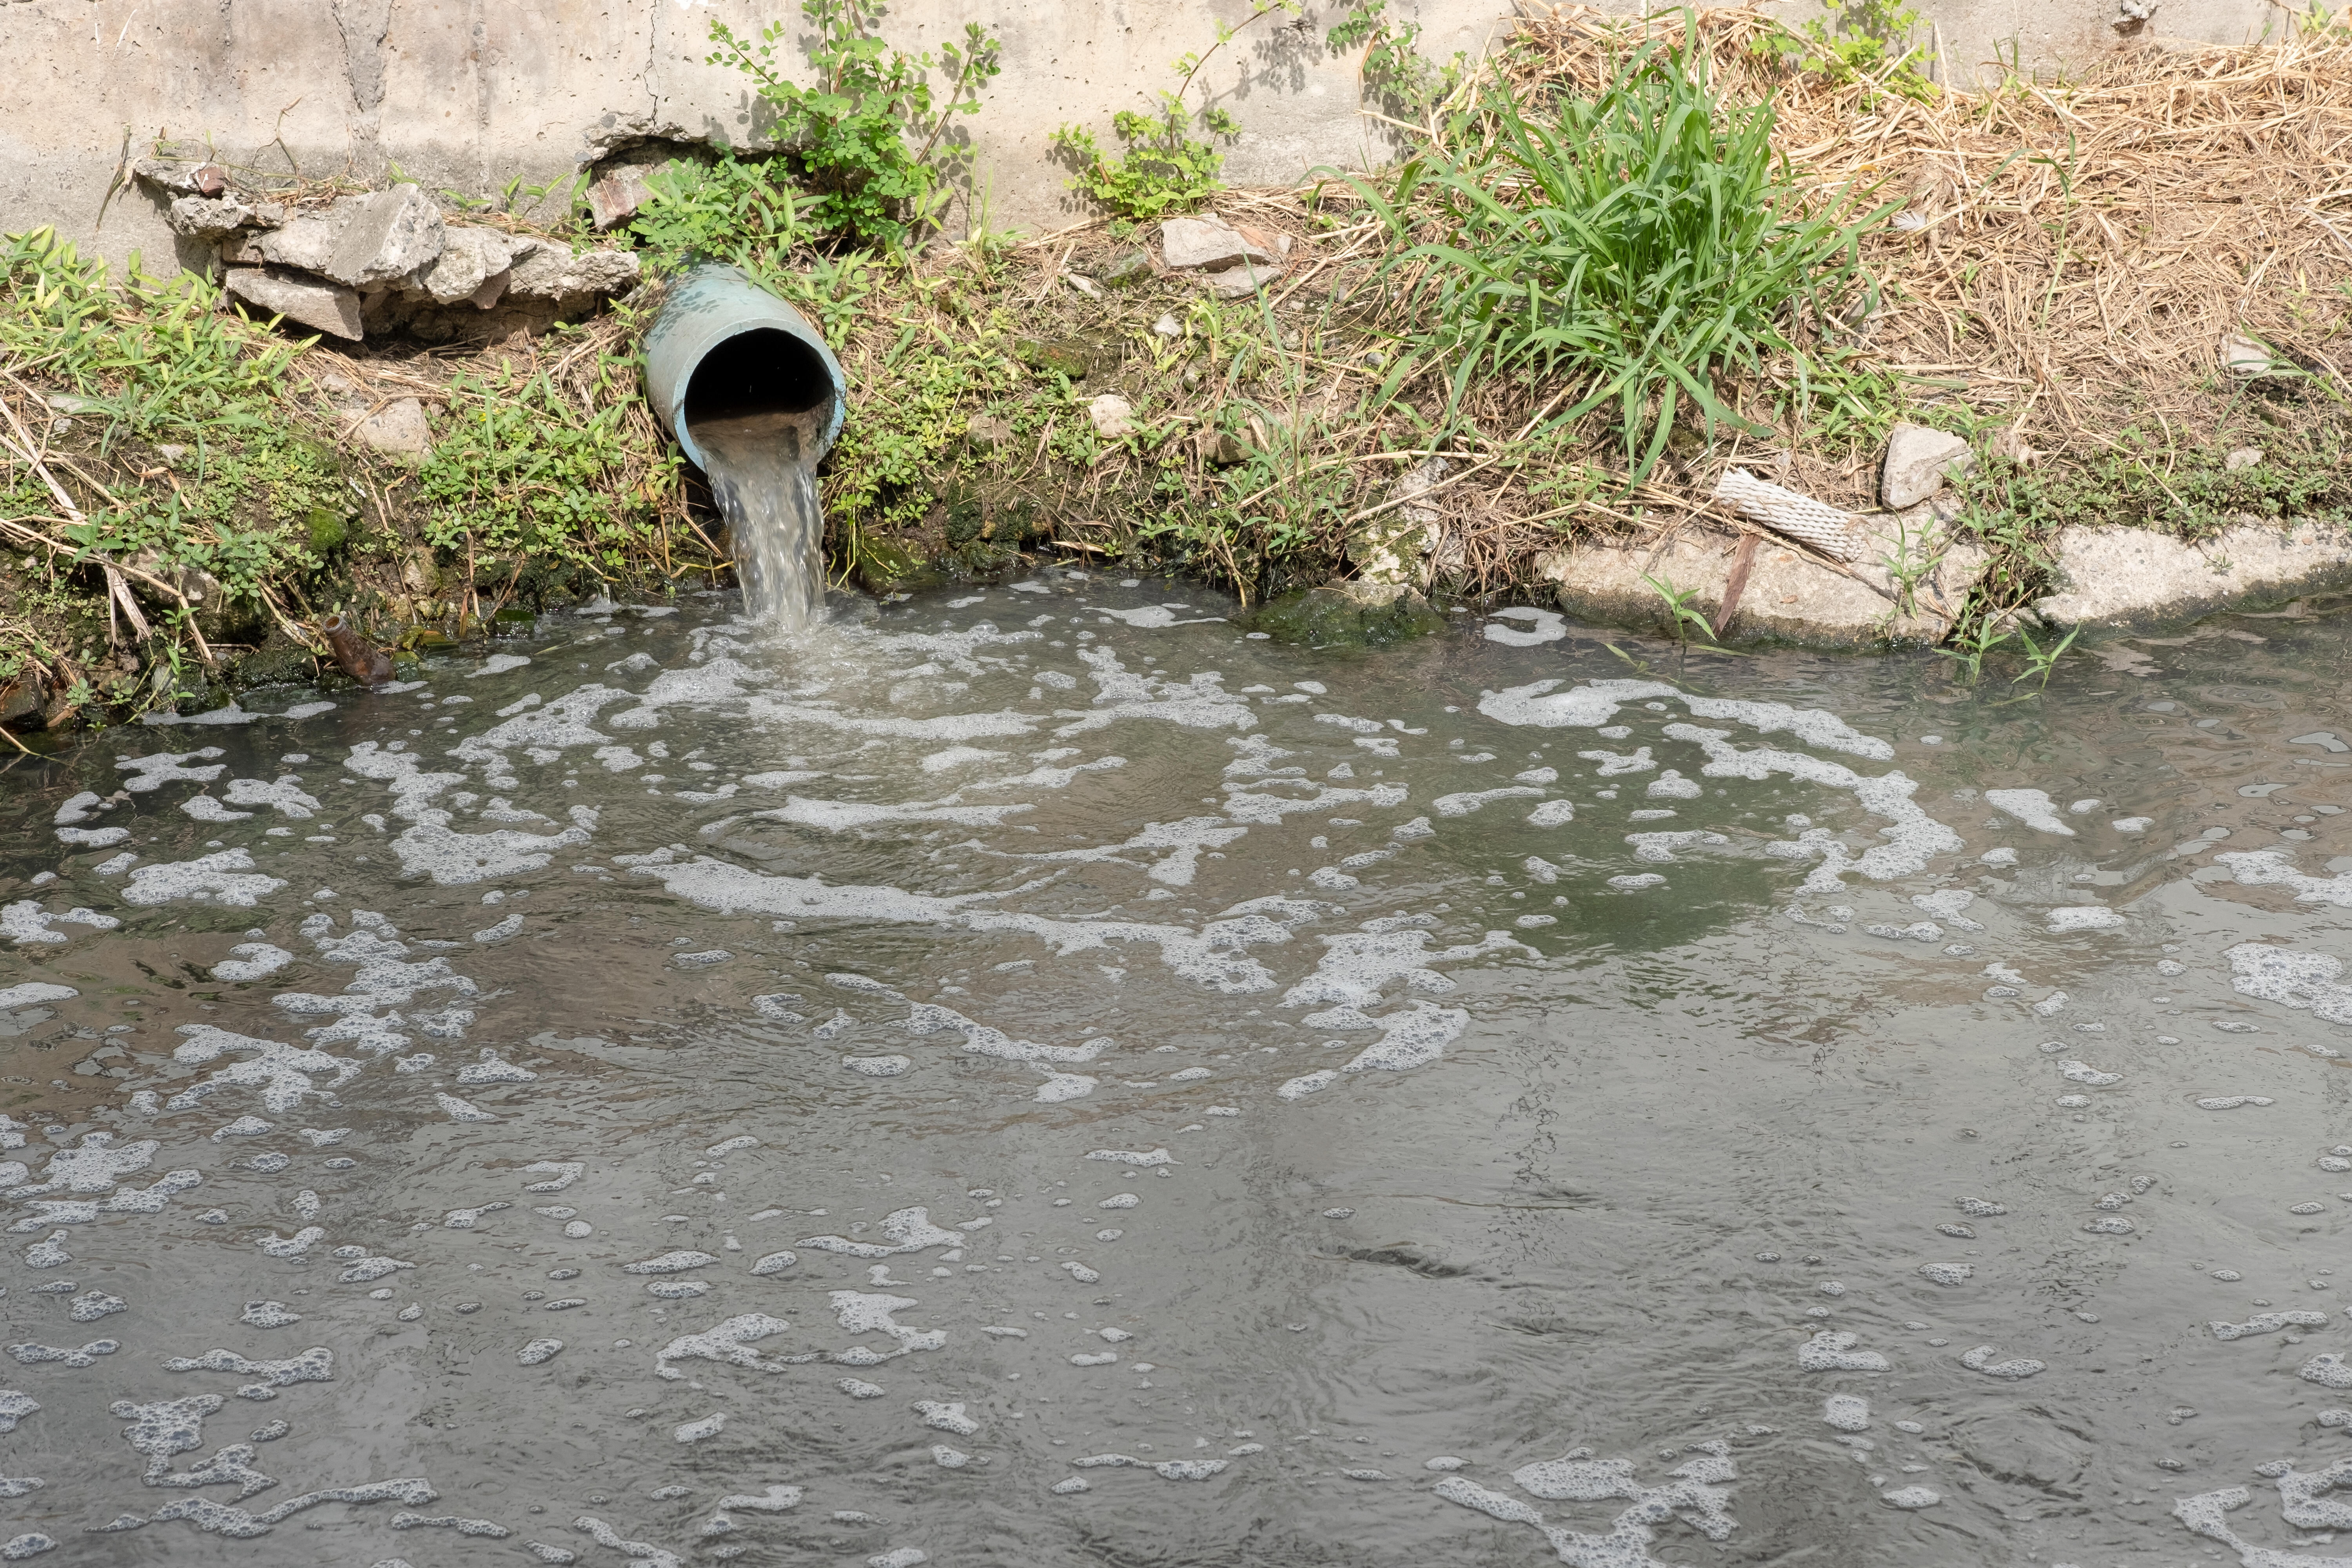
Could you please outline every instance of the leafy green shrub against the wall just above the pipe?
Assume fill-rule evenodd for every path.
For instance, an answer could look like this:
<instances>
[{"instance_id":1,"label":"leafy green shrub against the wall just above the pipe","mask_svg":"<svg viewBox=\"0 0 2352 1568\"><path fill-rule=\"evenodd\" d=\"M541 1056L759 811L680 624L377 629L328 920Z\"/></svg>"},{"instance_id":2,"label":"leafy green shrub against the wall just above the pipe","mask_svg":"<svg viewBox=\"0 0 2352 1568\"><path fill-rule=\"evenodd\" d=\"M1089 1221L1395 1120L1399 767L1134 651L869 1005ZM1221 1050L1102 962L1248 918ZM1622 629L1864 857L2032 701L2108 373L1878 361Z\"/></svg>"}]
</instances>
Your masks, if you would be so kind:
<instances>
[{"instance_id":1,"label":"leafy green shrub against the wall just above the pipe","mask_svg":"<svg viewBox=\"0 0 2352 1568\"><path fill-rule=\"evenodd\" d=\"M802 0L800 12L816 28L816 87L776 71L783 21L755 40L713 21L717 49L708 63L748 75L776 113L774 139L814 193L809 216L818 228L851 244L898 249L946 205L946 172L931 153L955 115L978 113L981 87L1002 71L1000 40L971 21L964 42L943 45L934 59L894 49L875 33L882 0ZM943 103L931 94L934 68L948 78Z\"/></svg>"}]
</instances>

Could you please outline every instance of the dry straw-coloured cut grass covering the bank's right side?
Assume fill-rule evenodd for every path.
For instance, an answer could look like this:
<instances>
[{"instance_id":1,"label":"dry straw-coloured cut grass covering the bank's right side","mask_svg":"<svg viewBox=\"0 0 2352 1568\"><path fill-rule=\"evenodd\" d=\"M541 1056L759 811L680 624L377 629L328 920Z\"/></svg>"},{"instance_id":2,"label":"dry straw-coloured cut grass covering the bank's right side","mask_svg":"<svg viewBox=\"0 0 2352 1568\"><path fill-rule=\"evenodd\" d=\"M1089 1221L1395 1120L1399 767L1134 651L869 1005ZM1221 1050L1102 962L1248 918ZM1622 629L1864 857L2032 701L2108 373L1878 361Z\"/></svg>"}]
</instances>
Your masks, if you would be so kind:
<instances>
[{"instance_id":1,"label":"dry straw-coloured cut grass covering the bank's right side","mask_svg":"<svg viewBox=\"0 0 2352 1568\"><path fill-rule=\"evenodd\" d=\"M1684 28L1562 7L1524 24L1517 87L1595 87L1628 45ZM2119 47L2074 80L1915 101L1762 59L1776 24L1759 12L1698 28L1717 80L1773 103L1799 179L1903 202L1865 244L1886 289L1877 360L1964 381L2034 447L2096 451L2147 416L2201 433L2227 400L2230 336L2345 369L2352 33Z\"/></svg>"}]
</instances>

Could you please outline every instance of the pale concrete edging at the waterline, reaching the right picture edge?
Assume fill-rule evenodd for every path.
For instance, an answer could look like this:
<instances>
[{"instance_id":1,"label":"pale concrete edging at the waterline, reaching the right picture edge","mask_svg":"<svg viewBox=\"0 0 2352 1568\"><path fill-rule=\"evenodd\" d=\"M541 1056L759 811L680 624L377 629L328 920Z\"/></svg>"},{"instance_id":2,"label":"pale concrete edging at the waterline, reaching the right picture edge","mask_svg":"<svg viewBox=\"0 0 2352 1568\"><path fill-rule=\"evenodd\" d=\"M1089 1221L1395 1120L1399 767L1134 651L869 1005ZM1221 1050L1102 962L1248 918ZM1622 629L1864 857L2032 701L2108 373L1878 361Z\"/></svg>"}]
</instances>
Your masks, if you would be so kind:
<instances>
[{"instance_id":1,"label":"pale concrete edging at the waterline, reaching the right picture edge","mask_svg":"<svg viewBox=\"0 0 2352 1568\"><path fill-rule=\"evenodd\" d=\"M2187 545L2143 529L2063 529L2056 576L2058 592L2034 604L2053 625L2157 625L2352 583L2352 531L2246 522Z\"/></svg>"}]
</instances>

